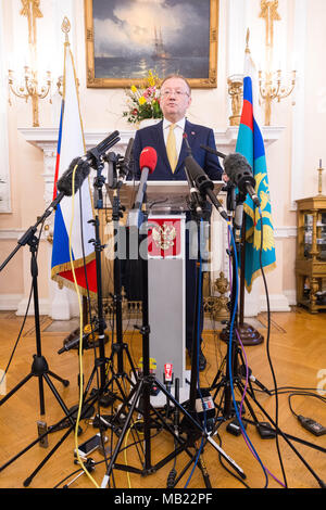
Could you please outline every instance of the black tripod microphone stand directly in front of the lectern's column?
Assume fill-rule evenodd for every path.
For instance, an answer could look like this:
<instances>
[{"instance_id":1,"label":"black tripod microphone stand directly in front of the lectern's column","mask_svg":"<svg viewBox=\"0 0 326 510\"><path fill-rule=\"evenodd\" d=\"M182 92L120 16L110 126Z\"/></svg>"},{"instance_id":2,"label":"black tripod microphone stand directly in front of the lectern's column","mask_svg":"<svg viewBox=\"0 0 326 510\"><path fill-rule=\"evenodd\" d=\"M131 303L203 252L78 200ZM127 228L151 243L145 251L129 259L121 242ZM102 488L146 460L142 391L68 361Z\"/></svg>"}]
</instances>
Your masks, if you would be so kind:
<instances>
[{"instance_id":1,"label":"black tripod microphone stand directly in front of the lectern's column","mask_svg":"<svg viewBox=\"0 0 326 510\"><path fill-rule=\"evenodd\" d=\"M143 193L141 201L142 203L146 203L146 192ZM193 418L192 413L189 412L185 407L183 407L179 404L179 401L176 398L174 398L173 395L166 390L164 384L162 384L161 381L155 379L154 374L150 372L150 324L149 324L149 302L148 302L148 214L143 207L141 212L140 209L138 209L136 213L137 213L136 217L135 215L133 217L133 221L131 221L133 225L134 226L139 225L139 218L141 218L141 221L142 221L142 224L140 225L141 235L139 235L139 245L141 244L141 252L142 252L141 275L142 275L143 297L142 297L142 326L139 328L139 331L142 336L143 368L142 368L142 373L138 374L137 382L130 391L130 394L128 396L128 401L125 403L125 405L123 405L120 408L115 417L113 417L111 420L111 424L113 424L115 421L118 421L121 415L125 411L126 406L129 405L129 411L126 416L125 423L121 431L116 447L114 451L112 452L110 463L108 466L105 475L102 480L101 488L105 488L108 486L113 469L118 469L122 471L130 471L131 473L137 473L141 475L148 475L163 468L166 463L175 459L183 451L186 451L187 455L190 457L190 461L188 466L186 467L186 469L188 469L189 466L191 466L191 463L195 462L196 458L198 457L198 449L196 451L196 455L193 456L193 454L189 450L189 447L193 447L193 446L196 447L196 441L201 436L204 437L205 442L210 442L210 444L212 444L214 448L222 456L224 456L225 460L230 463L230 466L240 474L240 476L246 477L241 468L239 468L236 464L236 462L228 455L226 455L224 450L211 438L211 436L206 433L206 431L203 430L202 425L199 423L197 418ZM195 361L196 361L196 355L193 358L193 365L195 365ZM183 437L180 434L178 434L177 431L175 430L175 421L173 421L172 423L168 423L166 420L164 420L164 418L159 412L159 410L156 410L151 405L150 394L151 394L152 386L158 387L166 396L166 400L174 404L175 409L184 413L186 429L187 429L186 438ZM141 403L140 407L137 407L138 401ZM193 407L193 401L192 401L192 407ZM138 419L139 419L139 413L143 418L145 459L142 463L142 469L136 468L134 466L124 466L124 464L116 463L117 456L121 451L128 428L130 426L130 422L133 420L133 415L135 411L138 413L138 417L137 417ZM154 421L153 418L151 418L151 411L154 413L158 421ZM175 411L175 415L177 411ZM164 459L159 461L155 466L153 466L152 460L151 460L150 430L152 426L155 426L155 423L158 422L162 423L164 430L166 430L167 432L170 432L170 434L172 434L172 436L175 439L175 444L177 443L179 446L176 447L172 454L170 454L167 457L165 457ZM180 426L183 430L183 424ZM191 431L195 430L196 433L193 434L193 432L191 432L191 434L189 434L189 428ZM204 480L206 487L210 487L211 486L210 480L209 480L205 467L201 458L198 459L198 468L202 472L203 480ZM183 471L181 476L184 475L186 469ZM178 480L175 481L174 486L178 483ZM172 485L170 485L170 487Z\"/></svg>"}]
</instances>

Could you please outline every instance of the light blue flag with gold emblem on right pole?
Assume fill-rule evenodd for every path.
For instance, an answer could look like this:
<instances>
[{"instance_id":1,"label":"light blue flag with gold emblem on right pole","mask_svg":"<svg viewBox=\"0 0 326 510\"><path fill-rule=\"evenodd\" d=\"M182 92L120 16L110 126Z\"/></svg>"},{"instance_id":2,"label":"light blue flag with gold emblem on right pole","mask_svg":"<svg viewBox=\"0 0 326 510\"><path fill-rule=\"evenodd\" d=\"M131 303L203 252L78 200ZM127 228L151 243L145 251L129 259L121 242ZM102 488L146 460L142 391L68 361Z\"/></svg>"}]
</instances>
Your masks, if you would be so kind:
<instances>
[{"instance_id":1,"label":"light blue flag with gold emblem on right pole","mask_svg":"<svg viewBox=\"0 0 326 510\"><path fill-rule=\"evenodd\" d=\"M276 267L274 228L264 139L259 126L259 87L256 71L249 48L246 50L243 105L238 131L236 152L242 154L251 165L255 179L255 192L261 201L262 220L248 195L243 204L246 218L244 284L251 292L252 283L261 272L260 251L263 227L262 267L272 270ZM263 226L262 226L263 221Z\"/></svg>"}]
</instances>

